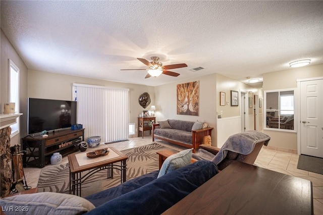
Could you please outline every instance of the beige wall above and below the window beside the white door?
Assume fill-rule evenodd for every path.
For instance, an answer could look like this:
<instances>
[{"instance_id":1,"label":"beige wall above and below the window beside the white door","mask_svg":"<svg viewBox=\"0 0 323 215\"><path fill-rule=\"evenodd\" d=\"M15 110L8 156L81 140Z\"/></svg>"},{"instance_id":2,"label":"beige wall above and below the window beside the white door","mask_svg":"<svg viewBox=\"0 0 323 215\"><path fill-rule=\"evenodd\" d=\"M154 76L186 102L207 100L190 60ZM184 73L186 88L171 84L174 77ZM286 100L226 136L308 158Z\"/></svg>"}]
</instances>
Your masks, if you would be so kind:
<instances>
[{"instance_id":1,"label":"beige wall above and below the window beside the white door","mask_svg":"<svg viewBox=\"0 0 323 215\"><path fill-rule=\"evenodd\" d=\"M297 88L297 79L323 77L323 64L263 74L263 90ZM296 92L297 93L297 92ZM297 150L297 133L264 130L269 146Z\"/></svg>"}]
</instances>

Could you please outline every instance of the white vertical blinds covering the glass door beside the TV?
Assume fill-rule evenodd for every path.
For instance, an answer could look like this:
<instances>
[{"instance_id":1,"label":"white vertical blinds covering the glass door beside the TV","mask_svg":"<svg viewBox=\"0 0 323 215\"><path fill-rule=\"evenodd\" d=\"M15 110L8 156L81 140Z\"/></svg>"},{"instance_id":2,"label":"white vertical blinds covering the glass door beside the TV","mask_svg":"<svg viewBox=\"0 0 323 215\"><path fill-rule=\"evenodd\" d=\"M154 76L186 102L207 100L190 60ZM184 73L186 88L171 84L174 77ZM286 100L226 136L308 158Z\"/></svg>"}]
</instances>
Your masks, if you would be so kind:
<instances>
[{"instance_id":1,"label":"white vertical blinds covering the glass door beside the TV","mask_svg":"<svg viewBox=\"0 0 323 215\"><path fill-rule=\"evenodd\" d=\"M77 122L85 137L101 136L102 142L125 140L129 136L129 89L73 84L77 101Z\"/></svg>"}]
</instances>

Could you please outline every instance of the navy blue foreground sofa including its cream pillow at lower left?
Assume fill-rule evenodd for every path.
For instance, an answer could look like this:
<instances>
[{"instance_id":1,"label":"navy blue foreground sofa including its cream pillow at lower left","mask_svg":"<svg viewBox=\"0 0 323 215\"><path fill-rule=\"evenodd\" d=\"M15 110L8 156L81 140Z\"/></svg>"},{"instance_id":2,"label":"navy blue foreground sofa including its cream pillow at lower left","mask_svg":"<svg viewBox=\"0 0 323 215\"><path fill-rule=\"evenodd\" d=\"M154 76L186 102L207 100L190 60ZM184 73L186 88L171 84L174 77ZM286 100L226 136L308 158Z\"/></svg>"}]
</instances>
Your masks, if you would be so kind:
<instances>
[{"instance_id":1,"label":"navy blue foreground sofa including its cream pillow at lower left","mask_svg":"<svg viewBox=\"0 0 323 215\"><path fill-rule=\"evenodd\" d=\"M53 192L10 196L0 199L0 208L6 215L160 214L211 179L218 168L199 160L158 178L159 172L163 168L85 198Z\"/></svg>"}]
</instances>

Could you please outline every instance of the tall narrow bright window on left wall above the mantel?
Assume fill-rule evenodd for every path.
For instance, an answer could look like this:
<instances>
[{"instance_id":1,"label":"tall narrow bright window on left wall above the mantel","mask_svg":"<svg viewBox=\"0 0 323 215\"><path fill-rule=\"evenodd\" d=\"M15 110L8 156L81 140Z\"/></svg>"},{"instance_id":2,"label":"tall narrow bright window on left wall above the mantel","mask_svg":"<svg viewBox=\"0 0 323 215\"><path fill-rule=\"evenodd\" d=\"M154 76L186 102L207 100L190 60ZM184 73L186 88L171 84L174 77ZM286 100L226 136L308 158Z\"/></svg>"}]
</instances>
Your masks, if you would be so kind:
<instances>
[{"instance_id":1,"label":"tall narrow bright window on left wall above the mantel","mask_svg":"<svg viewBox=\"0 0 323 215\"><path fill-rule=\"evenodd\" d=\"M9 59L9 102L15 103L15 113L19 113L19 68ZM10 126L11 135L19 133L19 118Z\"/></svg>"}]
</instances>

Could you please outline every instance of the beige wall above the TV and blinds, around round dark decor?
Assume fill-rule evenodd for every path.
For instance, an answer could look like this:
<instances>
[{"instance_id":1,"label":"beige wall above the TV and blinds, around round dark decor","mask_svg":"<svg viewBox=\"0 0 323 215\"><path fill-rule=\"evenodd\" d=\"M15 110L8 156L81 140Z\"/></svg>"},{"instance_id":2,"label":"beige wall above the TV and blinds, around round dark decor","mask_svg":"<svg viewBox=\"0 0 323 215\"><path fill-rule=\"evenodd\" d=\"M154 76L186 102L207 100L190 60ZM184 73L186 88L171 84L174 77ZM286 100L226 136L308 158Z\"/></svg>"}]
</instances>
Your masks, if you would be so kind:
<instances>
[{"instance_id":1,"label":"beige wall above the TV and blinds, around round dark decor","mask_svg":"<svg viewBox=\"0 0 323 215\"><path fill-rule=\"evenodd\" d=\"M73 83L130 89L129 123L136 123L136 126L138 126L138 115L143 110L149 110L155 101L154 87L35 70L28 70L28 97L72 100ZM151 99L146 109L143 109L138 102L139 96L144 92L148 92Z\"/></svg>"}]
</instances>

